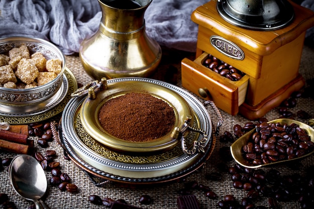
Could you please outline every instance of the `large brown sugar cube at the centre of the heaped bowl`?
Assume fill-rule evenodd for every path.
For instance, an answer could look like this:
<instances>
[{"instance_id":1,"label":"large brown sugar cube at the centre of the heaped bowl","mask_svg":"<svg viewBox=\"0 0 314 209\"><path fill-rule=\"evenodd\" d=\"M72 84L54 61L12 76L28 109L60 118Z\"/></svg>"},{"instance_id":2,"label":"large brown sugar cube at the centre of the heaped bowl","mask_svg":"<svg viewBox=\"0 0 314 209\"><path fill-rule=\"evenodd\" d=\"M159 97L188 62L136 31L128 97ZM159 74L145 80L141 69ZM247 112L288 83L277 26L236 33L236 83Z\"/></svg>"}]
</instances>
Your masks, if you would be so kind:
<instances>
[{"instance_id":1,"label":"large brown sugar cube at the centre of the heaped bowl","mask_svg":"<svg viewBox=\"0 0 314 209\"><path fill-rule=\"evenodd\" d=\"M26 84L32 83L38 76L38 69L28 59L23 58L15 72L17 78Z\"/></svg>"}]
</instances>

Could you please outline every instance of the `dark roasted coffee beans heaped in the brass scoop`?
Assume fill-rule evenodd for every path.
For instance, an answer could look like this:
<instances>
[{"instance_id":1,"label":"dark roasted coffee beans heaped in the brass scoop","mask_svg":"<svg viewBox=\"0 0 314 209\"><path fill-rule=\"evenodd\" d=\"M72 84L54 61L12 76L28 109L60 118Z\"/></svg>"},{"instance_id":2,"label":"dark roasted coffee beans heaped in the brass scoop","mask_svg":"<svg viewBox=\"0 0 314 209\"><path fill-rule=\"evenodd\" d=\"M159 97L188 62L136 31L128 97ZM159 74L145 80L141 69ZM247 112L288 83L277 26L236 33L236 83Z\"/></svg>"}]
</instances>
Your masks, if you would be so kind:
<instances>
[{"instance_id":1,"label":"dark roasted coffee beans heaped in the brass scoop","mask_svg":"<svg viewBox=\"0 0 314 209\"><path fill-rule=\"evenodd\" d=\"M295 123L263 122L256 127L242 150L249 163L261 165L301 157L314 150L314 143Z\"/></svg>"}]
</instances>

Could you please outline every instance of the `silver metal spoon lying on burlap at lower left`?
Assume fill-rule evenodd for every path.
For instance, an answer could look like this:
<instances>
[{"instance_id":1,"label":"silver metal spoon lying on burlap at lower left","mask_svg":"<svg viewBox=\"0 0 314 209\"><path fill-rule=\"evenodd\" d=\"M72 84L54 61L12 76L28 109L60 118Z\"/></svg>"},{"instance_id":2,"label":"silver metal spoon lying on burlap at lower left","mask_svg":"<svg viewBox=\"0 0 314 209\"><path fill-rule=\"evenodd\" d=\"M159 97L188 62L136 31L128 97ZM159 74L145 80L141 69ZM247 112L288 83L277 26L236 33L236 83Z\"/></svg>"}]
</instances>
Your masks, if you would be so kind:
<instances>
[{"instance_id":1,"label":"silver metal spoon lying on burlap at lower left","mask_svg":"<svg viewBox=\"0 0 314 209\"><path fill-rule=\"evenodd\" d=\"M49 209L41 200L47 190L47 178L44 169L32 156L16 156L9 166L10 181L14 190L27 200L35 203L36 209Z\"/></svg>"}]
</instances>

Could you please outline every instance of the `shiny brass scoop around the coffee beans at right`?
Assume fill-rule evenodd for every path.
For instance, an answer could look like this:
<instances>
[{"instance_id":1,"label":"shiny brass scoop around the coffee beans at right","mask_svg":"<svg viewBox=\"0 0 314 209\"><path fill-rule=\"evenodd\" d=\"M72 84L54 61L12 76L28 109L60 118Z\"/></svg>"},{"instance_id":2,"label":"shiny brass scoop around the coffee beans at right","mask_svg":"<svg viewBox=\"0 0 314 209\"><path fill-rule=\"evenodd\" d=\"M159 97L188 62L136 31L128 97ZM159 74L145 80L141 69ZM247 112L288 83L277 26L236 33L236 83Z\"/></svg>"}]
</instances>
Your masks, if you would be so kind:
<instances>
[{"instance_id":1,"label":"shiny brass scoop around the coffee beans at right","mask_svg":"<svg viewBox=\"0 0 314 209\"><path fill-rule=\"evenodd\" d=\"M311 126L309 126L309 125L307 125L305 123L302 123L302 122L299 122L299 121L296 121L296 120L291 120L291 119L276 119L276 120L269 121L268 123L280 123L281 125L282 124L290 125L292 123L295 123L300 128L302 128L308 134L308 136L310 137L310 140L312 142L314 142L314 129ZM311 152L309 152L307 154L304 154L304 155L302 155L300 157L295 157L293 159L286 159L286 160L280 160L280 161L278 160L276 162L270 162L270 163L267 163L267 164L254 165L254 164L248 162L247 159L245 159L245 156L244 156L243 151L242 151L242 147L248 143L248 141L250 140L250 137L252 136L253 132L255 132L255 129L245 133L243 136L238 138L230 146L230 151L231 151L231 155L232 155L233 159L237 163L239 163L240 165L242 165L244 167L258 168L258 167L262 167L262 166L272 166L272 165L277 165L279 163L290 162L292 160L299 160L301 158L307 157L307 156L309 156L309 155L314 153L314 150L313 150L313 151L311 151Z\"/></svg>"}]
</instances>

